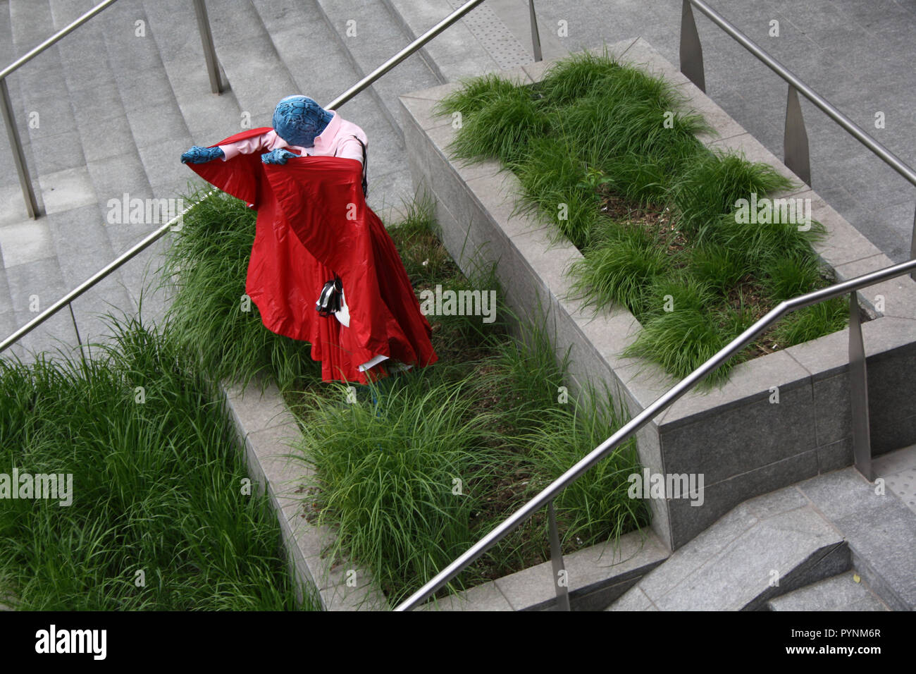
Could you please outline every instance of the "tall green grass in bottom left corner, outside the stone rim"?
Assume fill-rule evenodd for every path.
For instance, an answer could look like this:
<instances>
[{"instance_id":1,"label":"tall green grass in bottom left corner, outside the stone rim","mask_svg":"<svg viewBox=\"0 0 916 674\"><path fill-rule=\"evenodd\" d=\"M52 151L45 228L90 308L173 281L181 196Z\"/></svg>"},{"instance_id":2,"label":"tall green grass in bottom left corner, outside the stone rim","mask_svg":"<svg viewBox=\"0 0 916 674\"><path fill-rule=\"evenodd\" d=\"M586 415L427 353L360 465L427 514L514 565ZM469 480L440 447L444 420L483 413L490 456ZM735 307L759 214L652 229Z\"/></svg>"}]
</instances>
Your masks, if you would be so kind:
<instances>
[{"instance_id":1,"label":"tall green grass in bottom left corner, outside the stone rim","mask_svg":"<svg viewBox=\"0 0 916 674\"><path fill-rule=\"evenodd\" d=\"M0 598L26 611L295 610L277 515L210 381L158 328L109 321L114 340L92 358L0 359L0 473L71 475L67 505L0 500ZM320 606L311 591L306 607Z\"/></svg>"}]
</instances>

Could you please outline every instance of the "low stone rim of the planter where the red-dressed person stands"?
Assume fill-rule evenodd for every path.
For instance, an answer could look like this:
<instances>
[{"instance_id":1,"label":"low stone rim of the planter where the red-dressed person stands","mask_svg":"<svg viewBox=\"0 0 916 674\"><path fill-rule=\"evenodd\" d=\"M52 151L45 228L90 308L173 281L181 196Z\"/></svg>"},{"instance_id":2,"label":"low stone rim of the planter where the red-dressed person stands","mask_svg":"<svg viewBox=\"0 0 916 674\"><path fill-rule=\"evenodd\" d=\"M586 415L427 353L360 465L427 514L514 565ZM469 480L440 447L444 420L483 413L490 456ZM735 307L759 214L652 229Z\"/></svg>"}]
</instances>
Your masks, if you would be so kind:
<instances>
[{"instance_id":1,"label":"low stone rim of the planter where the red-dressed person stands","mask_svg":"<svg viewBox=\"0 0 916 674\"><path fill-rule=\"evenodd\" d=\"M301 431L273 384L264 391L221 382L240 440L248 474L260 492L267 491L277 512L289 569L301 592L313 591L326 611L387 611L384 592L367 570L345 563L329 564L322 555L334 536L305 517L300 490L303 465L295 458ZM598 611L614 602L649 571L668 558L667 547L650 530L634 531L615 543L586 547L565 556L573 610ZM458 595L432 601L420 610L540 611L554 606L553 569L547 561Z\"/></svg>"}]
</instances>

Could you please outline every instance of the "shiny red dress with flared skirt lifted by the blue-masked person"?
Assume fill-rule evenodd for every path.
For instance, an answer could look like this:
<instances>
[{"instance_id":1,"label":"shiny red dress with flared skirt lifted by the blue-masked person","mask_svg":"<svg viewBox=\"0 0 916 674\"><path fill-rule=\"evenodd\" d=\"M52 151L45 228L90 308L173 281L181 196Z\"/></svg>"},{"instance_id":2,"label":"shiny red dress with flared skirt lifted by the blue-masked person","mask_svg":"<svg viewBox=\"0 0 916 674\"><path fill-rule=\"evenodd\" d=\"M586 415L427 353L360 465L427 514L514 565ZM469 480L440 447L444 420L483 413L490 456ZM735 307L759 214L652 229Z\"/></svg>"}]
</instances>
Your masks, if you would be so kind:
<instances>
[{"instance_id":1,"label":"shiny red dress with flared skirt lifted by the blue-masked person","mask_svg":"<svg viewBox=\"0 0 916 674\"><path fill-rule=\"evenodd\" d=\"M256 128L216 145L269 131ZM211 146L213 147L213 146ZM400 361L437 360L431 327L420 312L407 271L385 225L365 203L359 160L311 156L265 164L259 154L188 164L204 180L257 210L245 293L267 329L311 343L324 381L366 383ZM322 317L315 302L340 276L350 326ZM360 371L376 356L389 360Z\"/></svg>"}]
</instances>

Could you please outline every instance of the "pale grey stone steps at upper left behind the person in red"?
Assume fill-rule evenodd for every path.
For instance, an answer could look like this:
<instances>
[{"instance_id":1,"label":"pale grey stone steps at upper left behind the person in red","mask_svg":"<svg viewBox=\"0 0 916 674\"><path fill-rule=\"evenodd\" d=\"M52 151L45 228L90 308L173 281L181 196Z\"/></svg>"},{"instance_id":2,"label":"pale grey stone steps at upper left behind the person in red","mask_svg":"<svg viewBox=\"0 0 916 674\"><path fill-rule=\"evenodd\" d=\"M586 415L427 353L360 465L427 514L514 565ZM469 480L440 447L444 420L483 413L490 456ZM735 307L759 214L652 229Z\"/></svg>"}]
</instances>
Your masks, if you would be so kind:
<instances>
[{"instance_id":1,"label":"pale grey stone steps at upper left behind the person in red","mask_svg":"<svg viewBox=\"0 0 916 674\"><path fill-rule=\"evenodd\" d=\"M13 61L93 5L0 0L0 59ZM40 54L8 81L43 215L27 218L11 154L3 149L0 335L25 325L158 227L106 222L110 200L123 201L125 193L131 199L188 193L192 174L178 160L184 149L244 127L270 126L273 106L285 95L303 93L328 103L406 46L414 30L430 28L452 9L445 0L211 0L213 39L230 87L218 96L210 94L187 0L122 0ZM490 15L486 22L496 25ZM383 218L395 219L413 194L398 94L442 83L442 72L457 72L452 62L463 63L463 74L492 70L496 61L488 49L496 50L493 39L509 35L503 27L487 46L486 40L467 39L468 28L452 30L462 39L445 33L437 48L455 50L450 63L439 67L429 53L411 56L343 110L370 138L369 204ZM36 113L38 124L30 123ZM153 287L168 245L168 237L158 241L73 303L83 342L104 340L97 314L134 313L141 289L144 317L156 321L163 315L168 298ZM9 355L28 360L27 349L75 346L65 310Z\"/></svg>"}]
</instances>

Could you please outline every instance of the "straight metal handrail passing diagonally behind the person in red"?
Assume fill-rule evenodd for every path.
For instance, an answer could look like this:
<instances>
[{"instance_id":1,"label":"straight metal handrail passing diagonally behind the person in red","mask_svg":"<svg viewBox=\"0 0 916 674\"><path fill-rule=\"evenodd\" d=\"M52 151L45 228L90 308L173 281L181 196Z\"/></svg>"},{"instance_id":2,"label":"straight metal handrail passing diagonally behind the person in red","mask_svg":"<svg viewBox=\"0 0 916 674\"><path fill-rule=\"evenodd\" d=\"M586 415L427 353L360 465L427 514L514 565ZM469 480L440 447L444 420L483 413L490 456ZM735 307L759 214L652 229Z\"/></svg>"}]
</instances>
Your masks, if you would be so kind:
<instances>
[{"instance_id":1,"label":"straight metal handrail passing diagonally behind the person in red","mask_svg":"<svg viewBox=\"0 0 916 674\"><path fill-rule=\"evenodd\" d=\"M531 13L532 13L532 14L531 14L532 40L534 41L534 48L535 48L535 57L536 57L536 60L540 60L540 40L537 40L537 39L536 39L536 36L537 36L537 22L536 22L536 20L535 20L535 18L534 18L534 14L533 14L533 12L534 12L534 4L533 4L533 0L530 0L530 1L531 1ZM115 2L115 0L107 0L106 3L104 3L104 5L107 6L107 5L109 5L109 4L113 3L113 2ZM384 75L385 73L387 73L388 71L390 71L392 68L394 68L396 65L398 65L398 63L400 63L401 61L404 61L404 59L406 59L410 54L414 53L414 52L417 51L417 50L420 50L420 48L421 48L423 45L425 45L425 44L426 44L427 42L429 42L431 39L435 38L437 35L439 35L440 33L442 33L442 31L445 30L445 28L449 28L450 26L452 26L456 21L458 21L458 19L460 19L461 17L463 17L465 14L467 14L467 13L470 12L472 9L474 9L474 7L480 5L480 4L483 3L483 2L485 2L485 0L469 0L469 2L465 3L463 6L460 6L458 9L456 9L455 11L453 11L453 13L450 14L448 17L443 18L442 21L440 21L438 24L436 24L435 26L433 26L432 28L430 28L429 30L427 30L427 31L426 31L425 33L423 33L419 38L413 40L407 47L405 47L404 49L398 51L397 54L395 54L395 55L392 56L390 59L388 59L387 61L385 61L384 63L382 63L380 66L378 66L378 67L376 68L376 70L374 70L373 72L370 72L370 73L369 73L368 75L366 75L362 80L360 80L359 82L355 83L355 84L354 84L353 86L351 86L349 89L347 89L346 91L344 91L343 94L340 94L339 96L337 96L336 98L334 98L333 101L332 101L331 103L329 103L328 105L325 105L325 109L333 110L333 109L336 109L337 107L339 107L339 106L341 106L341 105L344 105L344 103L346 103L346 102L349 101L351 98L353 98L354 95L359 94L360 92L362 92L363 90L365 90L365 88L366 88L367 86L369 86L370 84L376 82L376 80L377 80L378 78L380 78L382 75ZM102 11L102 9L104 9L104 7L102 7L102 6L100 6L100 7L101 7L101 8L96 7L96 10L97 10L97 11L96 11L96 10L93 10L93 11L95 11L95 13L98 13L98 12ZM88 15L88 13L87 13L87 15ZM85 18L88 18L87 15L84 15L84 17L85 17ZM82 18L82 17L81 17L81 18ZM68 27L68 28L71 28L71 27ZM72 28L71 28L71 29L72 29ZM66 30L66 28L65 28L65 30ZM61 33L62 33L62 31L61 31ZM65 35L65 34L66 34L66 33L63 33L62 35L60 35L60 37L63 37L63 35ZM57 39L60 39L60 37L58 37ZM46 40L46 42L47 42L47 41L48 41L48 40ZM38 48L36 48L36 49L38 49ZM31 53L31 52L29 52L29 53ZM37 53L38 53L38 52L37 52ZM31 54L31 56L29 56L29 54L27 54L26 56L28 56L29 58L33 58L33 57L35 56L35 54ZM26 57L23 57L23 59L25 59L25 58L26 58ZM20 60L20 61L21 61L21 60ZM23 62L25 62L25 61L23 61ZM14 64L14 65L15 65L15 64ZM21 65L21 63L20 63L19 65ZM13 70L15 70L15 69L13 69ZM10 72L12 72L12 71L10 71ZM3 81L0 80L0 84L2 84L2 83L3 83ZM216 193L216 192L218 192L218 190L211 190L210 192L206 193L206 194L203 196L203 199L207 199L208 197L210 197L211 195L213 195L213 194ZM203 199L200 200L200 201L203 201ZM64 306L67 305L67 304L70 304L74 299L76 299L77 297L79 297L80 295L82 295L82 293L85 293L85 292L88 291L90 288L92 288L93 285L95 285L96 283L102 281L102 280L103 280L106 276L108 276L110 273L112 273L112 272L115 271L116 269L120 268L127 260L130 260L130 259L136 257L136 255L137 255L138 253L140 253L140 252L142 252L143 250L147 249L147 248L148 248L149 246L151 246L153 243L155 243L156 241L158 241L159 238L164 237L165 234L169 231L169 229L170 229L171 227L174 227L175 223L178 222L180 218L183 218L184 215L187 215L188 213L190 213L191 210L192 210L195 206L197 206L197 204L200 204L200 201L198 201L198 202L196 202L196 203L194 203L194 204L191 204L188 208L186 208L184 211L182 211L181 215L176 215L175 217L173 217L171 220L169 220L168 223L166 223L166 224L163 225L162 227L159 227L155 232L153 232L152 234L150 234L147 238L143 239L143 240L140 241L138 244L136 244L136 246L134 246L133 248L127 250L125 253L123 253L122 255L118 256L117 258L115 258L112 262L110 262L108 265L106 265L103 269L97 271L97 272L94 273L93 276L91 276L89 279L87 279L86 281L82 282L79 286L77 286L76 288L74 288L70 293L67 293L66 295L64 295L63 297L61 297L60 300L58 300L58 301L55 302L54 304L51 304L47 309L45 309L43 312L41 312L39 315L37 315L37 316L36 316L35 318L33 318L31 321L29 321L25 326L20 327L20 328L17 329L16 332L14 332L12 335L10 335L9 337L6 337L2 342L0 342L0 352L4 351L6 348L9 348L9 346L12 345L13 343L15 343L18 339L20 339L20 338L26 336L28 333L30 333L32 330L34 330L36 327L40 326L42 323L44 323L45 321L47 321L52 315L54 315L54 314L56 314L58 311L60 311L60 309L61 309L62 307L64 307ZM75 322L75 319L74 319L74 328L75 328L75 327L76 327L76 322ZM79 337L77 337L77 338L79 339Z\"/></svg>"}]
</instances>

